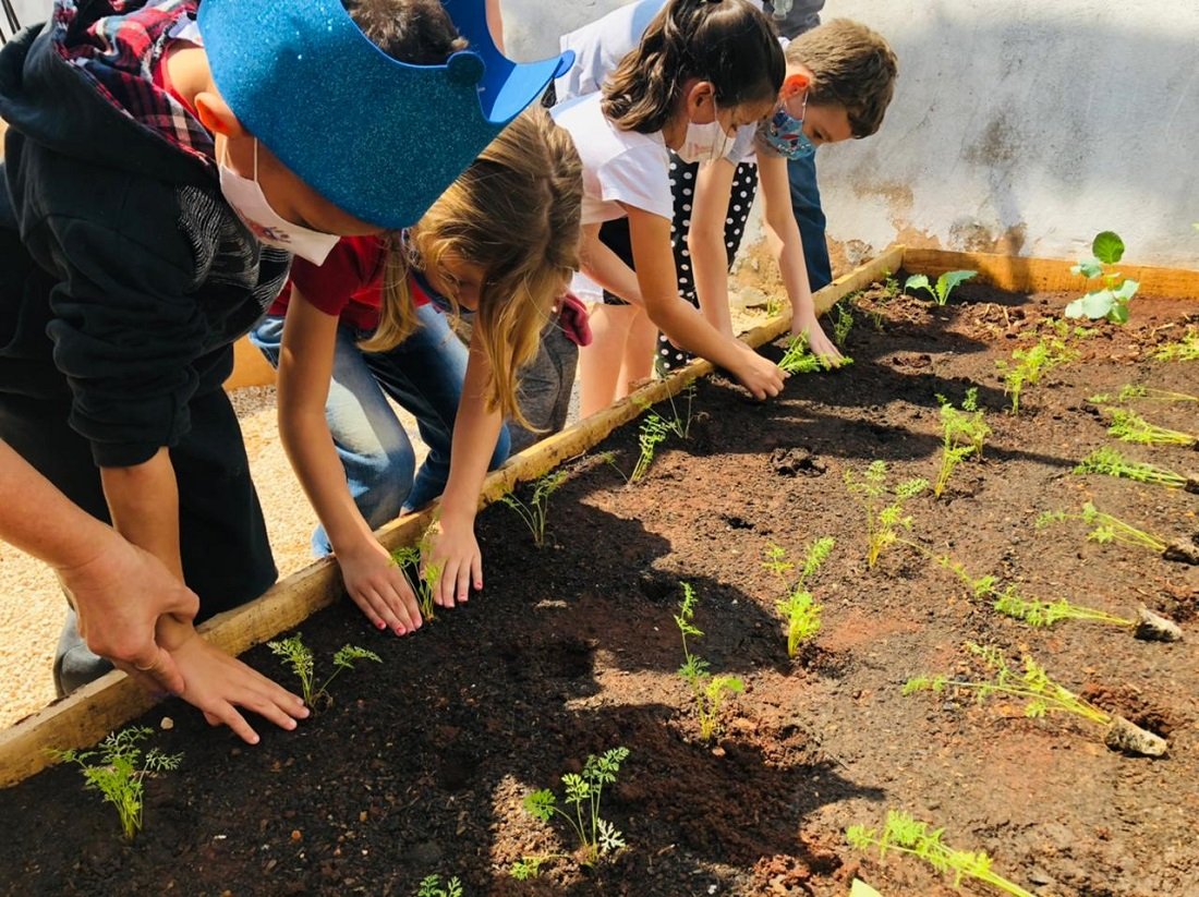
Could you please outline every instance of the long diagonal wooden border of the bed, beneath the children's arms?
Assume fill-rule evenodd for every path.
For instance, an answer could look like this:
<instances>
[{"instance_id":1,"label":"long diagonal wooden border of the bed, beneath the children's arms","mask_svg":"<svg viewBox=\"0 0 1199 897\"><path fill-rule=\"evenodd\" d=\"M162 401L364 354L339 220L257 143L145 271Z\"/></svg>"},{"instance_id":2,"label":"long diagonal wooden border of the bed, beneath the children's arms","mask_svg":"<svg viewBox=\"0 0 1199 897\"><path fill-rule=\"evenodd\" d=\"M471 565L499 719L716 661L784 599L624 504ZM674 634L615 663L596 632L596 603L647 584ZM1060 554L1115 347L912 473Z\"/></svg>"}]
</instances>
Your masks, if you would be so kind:
<instances>
[{"instance_id":1,"label":"long diagonal wooden border of the bed, beneath the children's arms","mask_svg":"<svg viewBox=\"0 0 1199 897\"><path fill-rule=\"evenodd\" d=\"M896 271L903 247L893 247L873 261L837 278L813 301L818 313L878 279L882 271ZM790 326L790 309L742 335L758 348L777 339ZM694 361L663 380L656 380L596 415L513 456L483 483L480 505L486 506L511 492L517 483L536 480L564 462L602 441L609 433L641 414L647 404L679 393L697 377L712 372L706 361ZM430 507L406 514L376 531L388 549L415 544L436 512ZM242 607L219 614L200 626L212 644L230 654L242 654L254 645L299 626L312 614L333 603L343 594L337 566L330 559L313 562L276 583L265 595ZM109 732L153 706L153 699L123 673L114 672L37 714L0 732L0 788L38 772L53 763L44 748L80 748L95 745Z\"/></svg>"}]
</instances>

